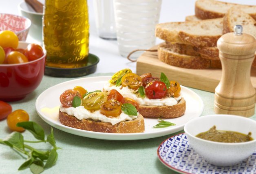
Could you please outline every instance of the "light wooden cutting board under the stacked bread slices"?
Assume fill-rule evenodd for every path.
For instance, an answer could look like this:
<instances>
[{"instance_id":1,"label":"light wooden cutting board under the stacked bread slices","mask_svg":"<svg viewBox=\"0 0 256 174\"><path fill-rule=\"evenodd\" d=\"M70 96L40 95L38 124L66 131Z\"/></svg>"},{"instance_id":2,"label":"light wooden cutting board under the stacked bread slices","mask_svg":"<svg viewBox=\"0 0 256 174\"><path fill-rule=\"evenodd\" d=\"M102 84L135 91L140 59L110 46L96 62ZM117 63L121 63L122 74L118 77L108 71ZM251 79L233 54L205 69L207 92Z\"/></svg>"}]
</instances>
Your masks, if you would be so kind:
<instances>
[{"instance_id":1,"label":"light wooden cutting board under the stacked bread slices","mask_svg":"<svg viewBox=\"0 0 256 174\"><path fill-rule=\"evenodd\" d=\"M157 46L151 49L157 49ZM159 61L157 52L144 52L137 59L137 74L151 72L152 76L160 77L161 72L166 74L169 80L176 80L181 85L201 89L204 91L215 92L215 88L221 80L221 70L204 69L193 70L175 67ZM252 85L256 89L256 68L251 71Z\"/></svg>"}]
</instances>

